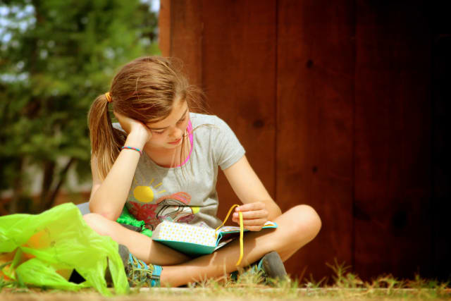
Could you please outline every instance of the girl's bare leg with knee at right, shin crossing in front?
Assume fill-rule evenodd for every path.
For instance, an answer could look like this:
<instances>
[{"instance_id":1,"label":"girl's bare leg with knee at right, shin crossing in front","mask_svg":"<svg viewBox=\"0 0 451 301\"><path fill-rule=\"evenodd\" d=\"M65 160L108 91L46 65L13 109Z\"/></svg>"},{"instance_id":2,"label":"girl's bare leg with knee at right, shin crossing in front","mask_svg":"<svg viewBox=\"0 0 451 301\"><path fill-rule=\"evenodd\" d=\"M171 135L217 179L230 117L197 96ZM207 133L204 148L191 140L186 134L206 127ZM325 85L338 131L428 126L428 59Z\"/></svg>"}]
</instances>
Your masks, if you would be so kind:
<instances>
[{"instance_id":1,"label":"girl's bare leg with knee at right, shin crossing in front","mask_svg":"<svg viewBox=\"0 0 451 301\"><path fill-rule=\"evenodd\" d=\"M277 251L285 261L299 248L314 239L321 228L321 220L313 208L299 205L275 219L278 228L251 232L245 235L244 257L240 266L256 262L264 254ZM204 255L177 266L163 266L161 285L179 286L205 278L218 277L235 271L240 254L238 240L213 254Z\"/></svg>"}]
</instances>

